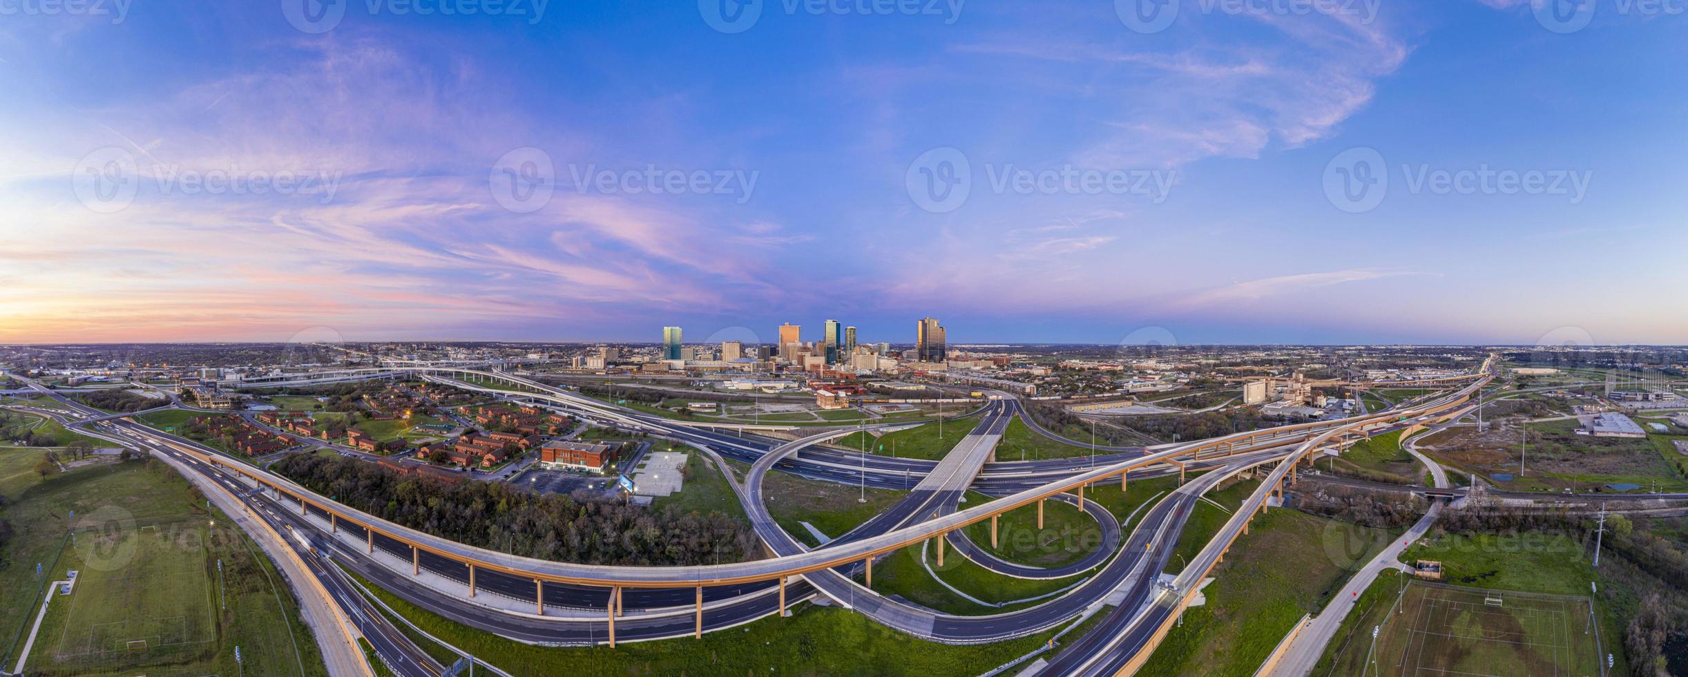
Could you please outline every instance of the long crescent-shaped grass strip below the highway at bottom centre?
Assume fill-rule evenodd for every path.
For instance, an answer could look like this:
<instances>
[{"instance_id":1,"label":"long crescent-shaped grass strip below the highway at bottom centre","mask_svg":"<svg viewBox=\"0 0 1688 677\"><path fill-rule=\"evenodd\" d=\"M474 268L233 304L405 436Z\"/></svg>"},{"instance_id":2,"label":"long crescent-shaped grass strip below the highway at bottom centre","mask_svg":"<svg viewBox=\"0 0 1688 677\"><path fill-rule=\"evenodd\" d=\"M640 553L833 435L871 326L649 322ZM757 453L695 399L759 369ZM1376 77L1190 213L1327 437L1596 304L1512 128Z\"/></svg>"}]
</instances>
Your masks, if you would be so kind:
<instances>
[{"instance_id":1,"label":"long crescent-shaped grass strip below the highway at bottom centre","mask_svg":"<svg viewBox=\"0 0 1688 677\"><path fill-rule=\"evenodd\" d=\"M1055 635L1045 631L1011 642L955 647L915 640L854 611L798 604L790 618L763 618L706 633L701 640L623 642L616 648L535 647L449 621L368 581L361 582L429 635L511 674L977 675L1047 645ZM1087 626L1074 630L1062 642L1077 640Z\"/></svg>"}]
</instances>

